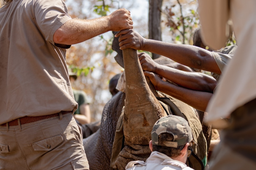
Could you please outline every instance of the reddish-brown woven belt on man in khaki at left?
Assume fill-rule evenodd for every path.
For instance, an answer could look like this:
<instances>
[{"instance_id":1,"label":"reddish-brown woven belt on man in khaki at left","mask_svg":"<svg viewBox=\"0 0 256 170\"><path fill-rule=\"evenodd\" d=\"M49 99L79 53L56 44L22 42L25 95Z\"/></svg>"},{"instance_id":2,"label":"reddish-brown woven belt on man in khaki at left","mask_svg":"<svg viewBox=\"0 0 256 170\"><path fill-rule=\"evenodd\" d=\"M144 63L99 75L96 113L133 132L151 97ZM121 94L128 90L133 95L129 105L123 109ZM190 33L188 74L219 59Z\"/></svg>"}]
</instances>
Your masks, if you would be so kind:
<instances>
[{"instance_id":1,"label":"reddish-brown woven belt on man in khaki at left","mask_svg":"<svg viewBox=\"0 0 256 170\"><path fill-rule=\"evenodd\" d=\"M50 115L45 115L45 116L25 116L20 118L20 124L26 124L26 123L31 123L31 122L36 122L39 120L43 119L48 119L51 117L56 117L59 116L59 114L67 114L67 113L72 113L72 111L60 111L59 113L54 113ZM18 119L12 120L8 122L8 126L17 126L18 124ZM0 126L6 126L6 123L1 124Z\"/></svg>"}]
</instances>

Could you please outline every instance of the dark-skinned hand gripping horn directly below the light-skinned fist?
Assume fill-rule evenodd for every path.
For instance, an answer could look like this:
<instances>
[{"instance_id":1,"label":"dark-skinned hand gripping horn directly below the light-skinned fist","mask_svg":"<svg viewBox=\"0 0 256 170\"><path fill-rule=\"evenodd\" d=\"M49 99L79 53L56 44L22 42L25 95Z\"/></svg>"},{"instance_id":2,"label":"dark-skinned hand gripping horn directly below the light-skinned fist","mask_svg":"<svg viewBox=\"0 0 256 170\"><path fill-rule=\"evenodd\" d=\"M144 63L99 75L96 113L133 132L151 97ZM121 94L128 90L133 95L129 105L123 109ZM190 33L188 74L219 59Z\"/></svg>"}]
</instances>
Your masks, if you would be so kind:
<instances>
[{"instance_id":1,"label":"dark-skinned hand gripping horn directly below the light-skinned fist","mask_svg":"<svg viewBox=\"0 0 256 170\"><path fill-rule=\"evenodd\" d=\"M143 38L139 33L130 30L121 30L115 37L119 37L118 41L120 49L133 48L135 50L142 50L145 38Z\"/></svg>"}]
</instances>

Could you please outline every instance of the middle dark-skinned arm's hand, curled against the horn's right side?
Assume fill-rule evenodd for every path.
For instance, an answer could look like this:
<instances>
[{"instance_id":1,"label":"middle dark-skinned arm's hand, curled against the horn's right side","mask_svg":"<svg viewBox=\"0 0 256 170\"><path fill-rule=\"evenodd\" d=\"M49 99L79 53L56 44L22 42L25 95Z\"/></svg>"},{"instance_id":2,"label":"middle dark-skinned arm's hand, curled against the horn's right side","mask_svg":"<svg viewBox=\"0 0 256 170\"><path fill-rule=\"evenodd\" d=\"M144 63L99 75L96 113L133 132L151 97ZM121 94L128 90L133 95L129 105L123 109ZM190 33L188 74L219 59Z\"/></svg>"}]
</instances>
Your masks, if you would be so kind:
<instances>
[{"instance_id":1,"label":"middle dark-skinned arm's hand, curled against the horn's right side","mask_svg":"<svg viewBox=\"0 0 256 170\"><path fill-rule=\"evenodd\" d=\"M157 63L153 59L151 59L151 57L147 53L145 52L138 53L138 57L140 60L140 65L143 70L146 70L149 72L156 71Z\"/></svg>"}]
</instances>

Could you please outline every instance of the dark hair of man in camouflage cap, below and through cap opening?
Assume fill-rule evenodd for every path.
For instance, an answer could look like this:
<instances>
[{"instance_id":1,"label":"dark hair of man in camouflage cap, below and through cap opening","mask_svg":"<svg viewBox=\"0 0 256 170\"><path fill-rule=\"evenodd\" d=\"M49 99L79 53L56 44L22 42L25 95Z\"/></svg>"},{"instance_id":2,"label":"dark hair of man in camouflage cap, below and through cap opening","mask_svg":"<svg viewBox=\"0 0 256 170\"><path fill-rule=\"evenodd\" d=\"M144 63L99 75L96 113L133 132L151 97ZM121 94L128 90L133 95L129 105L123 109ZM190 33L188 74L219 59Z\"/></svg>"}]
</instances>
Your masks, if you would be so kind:
<instances>
[{"instance_id":1,"label":"dark hair of man in camouflage cap, below and through cap opening","mask_svg":"<svg viewBox=\"0 0 256 170\"><path fill-rule=\"evenodd\" d=\"M162 141L173 141L173 135L170 133L162 133L159 135L159 144ZM177 148L167 147L167 146L160 146L160 145L153 145L152 151L161 152L169 157L177 157L181 155L181 150L184 148L185 145L180 145Z\"/></svg>"}]
</instances>

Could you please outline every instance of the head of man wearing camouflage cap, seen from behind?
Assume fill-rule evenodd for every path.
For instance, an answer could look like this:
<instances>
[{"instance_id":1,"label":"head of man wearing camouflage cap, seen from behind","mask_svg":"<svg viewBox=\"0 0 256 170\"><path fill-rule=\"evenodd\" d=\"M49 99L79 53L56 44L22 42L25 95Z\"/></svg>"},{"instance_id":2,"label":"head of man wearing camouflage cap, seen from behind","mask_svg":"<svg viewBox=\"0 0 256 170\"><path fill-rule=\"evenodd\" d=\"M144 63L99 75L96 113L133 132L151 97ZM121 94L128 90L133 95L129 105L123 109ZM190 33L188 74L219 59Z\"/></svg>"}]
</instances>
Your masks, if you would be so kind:
<instances>
[{"instance_id":1,"label":"head of man wearing camouflage cap, seen from behind","mask_svg":"<svg viewBox=\"0 0 256 170\"><path fill-rule=\"evenodd\" d=\"M149 143L151 151L164 153L184 163L191 154L192 132L187 120L180 116L169 115L160 118L154 124L151 138Z\"/></svg>"}]
</instances>

